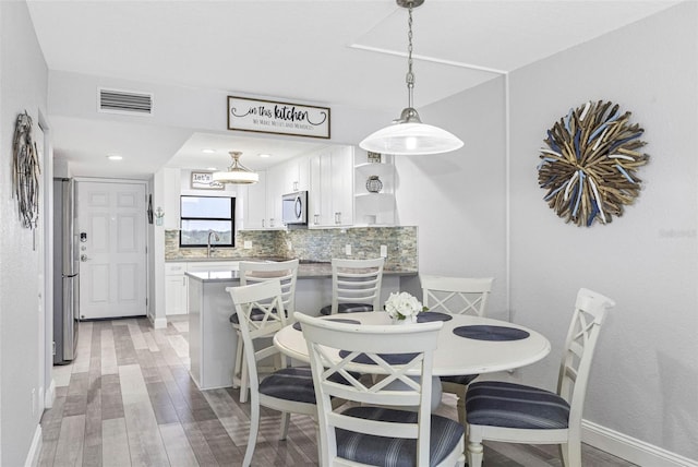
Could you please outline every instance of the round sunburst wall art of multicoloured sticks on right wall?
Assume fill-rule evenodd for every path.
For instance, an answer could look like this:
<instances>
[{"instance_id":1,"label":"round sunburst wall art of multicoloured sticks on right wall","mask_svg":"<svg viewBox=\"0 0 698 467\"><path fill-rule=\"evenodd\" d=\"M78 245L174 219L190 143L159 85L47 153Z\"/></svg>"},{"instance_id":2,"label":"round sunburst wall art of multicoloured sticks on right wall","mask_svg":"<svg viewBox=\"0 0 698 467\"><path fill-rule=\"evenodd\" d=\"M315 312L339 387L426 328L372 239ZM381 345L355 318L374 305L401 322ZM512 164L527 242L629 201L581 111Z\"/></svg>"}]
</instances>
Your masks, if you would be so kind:
<instances>
[{"instance_id":1,"label":"round sunburst wall art of multicoloured sticks on right wall","mask_svg":"<svg viewBox=\"0 0 698 467\"><path fill-rule=\"evenodd\" d=\"M590 227L622 216L641 189L637 170L649 155L639 149L645 132L630 123L630 112L599 100L569 109L547 130L538 165L538 183L547 190L543 197L566 223Z\"/></svg>"}]
</instances>

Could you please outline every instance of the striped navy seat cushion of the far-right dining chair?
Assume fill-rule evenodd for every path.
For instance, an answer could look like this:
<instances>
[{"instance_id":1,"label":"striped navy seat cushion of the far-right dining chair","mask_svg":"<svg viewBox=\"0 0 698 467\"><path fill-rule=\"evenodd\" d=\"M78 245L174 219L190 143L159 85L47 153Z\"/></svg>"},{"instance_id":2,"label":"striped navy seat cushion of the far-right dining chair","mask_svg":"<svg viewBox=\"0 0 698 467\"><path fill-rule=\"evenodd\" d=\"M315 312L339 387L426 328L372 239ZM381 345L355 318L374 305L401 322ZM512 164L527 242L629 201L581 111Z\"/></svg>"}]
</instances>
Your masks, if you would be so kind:
<instances>
[{"instance_id":1,"label":"striped navy seat cushion of the far-right dining chair","mask_svg":"<svg viewBox=\"0 0 698 467\"><path fill-rule=\"evenodd\" d=\"M468 386L466 418L470 424L564 429L569 423L569 404L539 387L482 381Z\"/></svg>"}]
</instances>

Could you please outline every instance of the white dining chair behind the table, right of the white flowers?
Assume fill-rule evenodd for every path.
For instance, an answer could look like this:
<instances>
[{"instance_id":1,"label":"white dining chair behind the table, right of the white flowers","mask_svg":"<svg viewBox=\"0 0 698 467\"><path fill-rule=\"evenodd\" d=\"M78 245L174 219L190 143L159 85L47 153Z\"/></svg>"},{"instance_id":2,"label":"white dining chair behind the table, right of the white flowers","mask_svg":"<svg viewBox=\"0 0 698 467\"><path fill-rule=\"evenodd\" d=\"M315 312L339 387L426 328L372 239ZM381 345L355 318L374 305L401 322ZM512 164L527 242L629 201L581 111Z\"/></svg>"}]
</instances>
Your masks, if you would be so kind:
<instances>
[{"instance_id":1,"label":"white dining chair behind the table, right of the white flowers","mask_svg":"<svg viewBox=\"0 0 698 467\"><path fill-rule=\"evenodd\" d=\"M484 316L492 292L493 277L449 277L420 274L422 303L429 311ZM466 422L465 398L468 384L478 374L441 376L444 393L457 397L458 420Z\"/></svg>"}]
</instances>

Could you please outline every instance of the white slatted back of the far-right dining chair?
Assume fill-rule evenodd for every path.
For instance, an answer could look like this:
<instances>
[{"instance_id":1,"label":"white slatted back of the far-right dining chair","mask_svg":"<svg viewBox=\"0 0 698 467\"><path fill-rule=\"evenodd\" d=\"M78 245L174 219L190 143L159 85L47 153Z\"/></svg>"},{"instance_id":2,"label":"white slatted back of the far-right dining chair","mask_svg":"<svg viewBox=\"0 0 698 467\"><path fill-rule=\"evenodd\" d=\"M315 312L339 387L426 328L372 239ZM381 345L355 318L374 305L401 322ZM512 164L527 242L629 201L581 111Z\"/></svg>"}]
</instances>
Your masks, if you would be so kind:
<instances>
[{"instance_id":1,"label":"white slatted back of the far-right dining chair","mask_svg":"<svg viewBox=\"0 0 698 467\"><path fill-rule=\"evenodd\" d=\"M570 430L581 427L594 348L606 311L614 306L612 299L589 289L581 288L577 294L557 381L557 394L570 406Z\"/></svg>"}]
</instances>

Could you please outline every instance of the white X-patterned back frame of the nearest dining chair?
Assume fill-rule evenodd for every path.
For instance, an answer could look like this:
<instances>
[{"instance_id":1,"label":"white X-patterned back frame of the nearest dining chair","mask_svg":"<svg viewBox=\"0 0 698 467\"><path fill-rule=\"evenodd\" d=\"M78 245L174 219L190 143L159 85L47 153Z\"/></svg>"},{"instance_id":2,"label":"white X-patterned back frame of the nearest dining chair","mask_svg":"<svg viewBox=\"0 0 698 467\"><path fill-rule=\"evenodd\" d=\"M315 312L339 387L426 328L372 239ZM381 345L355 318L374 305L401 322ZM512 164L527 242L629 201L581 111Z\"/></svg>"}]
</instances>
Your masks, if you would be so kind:
<instances>
[{"instance_id":1,"label":"white X-patterned back frame of the nearest dining chair","mask_svg":"<svg viewBox=\"0 0 698 467\"><path fill-rule=\"evenodd\" d=\"M296 319L301 322L308 343L315 383L323 447L321 465L333 465L337 458L335 429L417 439L417 465L428 465L432 359L443 322L362 326L301 313L296 313ZM353 379L350 384L336 380L348 372L364 378ZM401 383L400 388L395 387L396 382ZM417 421L357 419L342 414L342 408L333 409L334 397L362 406L418 407Z\"/></svg>"}]
</instances>

